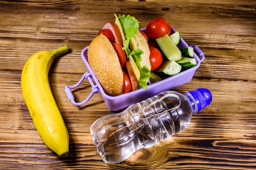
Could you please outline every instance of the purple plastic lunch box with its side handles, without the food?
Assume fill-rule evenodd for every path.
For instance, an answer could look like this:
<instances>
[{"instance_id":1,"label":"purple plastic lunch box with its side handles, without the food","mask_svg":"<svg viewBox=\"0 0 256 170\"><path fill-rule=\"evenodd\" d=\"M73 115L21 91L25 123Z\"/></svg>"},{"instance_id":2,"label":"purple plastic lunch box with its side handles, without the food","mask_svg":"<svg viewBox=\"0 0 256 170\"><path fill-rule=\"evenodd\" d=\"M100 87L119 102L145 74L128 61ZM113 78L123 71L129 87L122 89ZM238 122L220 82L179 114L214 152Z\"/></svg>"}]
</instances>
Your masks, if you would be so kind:
<instances>
[{"instance_id":1,"label":"purple plastic lunch box with its side handles, without the food","mask_svg":"<svg viewBox=\"0 0 256 170\"><path fill-rule=\"evenodd\" d=\"M142 31L145 31L145 28L141 29ZM171 26L171 34L176 32L173 26ZM163 79L159 82L151 83L149 82L148 87L146 89L140 88L135 91L131 91L129 93L125 93L119 96L109 96L101 87L101 84L99 83L97 77L92 71L92 68L90 67L88 61L87 61L87 50L88 46L83 49L81 52L81 57L83 61L85 62L85 65L88 69L88 72L84 73L79 82L77 82L73 86L65 86L65 93L67 95L67 98L74 104L75 106L81 106L88 102L90 98L94 95L94 93L100 92L103 101L105 102L108 109L112 111L120 110L122 108L125 108L127 106L130 106L131 104L141 102L142 100L152 97L154 95L157 95L158 93L161 93L163 91L170 90L171 88L175 88L177 86L180 86L182 84L185 84L193 78L193 75L195 73L195 70L200 66L200 63L204 60L204 53L199 49L198 46L191 45L194 48L194 58L197 62L197 65L189 68L188 70L182 71L176 75L173 75L171 77L168 77L166 79ZM189 45L180 38L180 43L177 45L179 49L189 47ZM200 57L198 57L200 56ZM88 79L92 86L92 92L86 99L82 102L75 102L74 95L71 92L72 88L76 88L79 86L84 79Z\"/></svg>"}]
</instances>

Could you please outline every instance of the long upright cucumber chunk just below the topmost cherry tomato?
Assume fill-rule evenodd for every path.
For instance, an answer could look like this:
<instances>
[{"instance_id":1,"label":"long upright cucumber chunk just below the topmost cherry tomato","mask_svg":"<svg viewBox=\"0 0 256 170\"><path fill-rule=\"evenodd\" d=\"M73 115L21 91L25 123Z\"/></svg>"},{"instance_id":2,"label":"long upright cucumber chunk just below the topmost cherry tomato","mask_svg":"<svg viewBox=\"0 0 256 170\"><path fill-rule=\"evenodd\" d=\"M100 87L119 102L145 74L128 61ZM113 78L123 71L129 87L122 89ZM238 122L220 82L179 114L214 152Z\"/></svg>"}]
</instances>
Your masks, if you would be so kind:
<instances>
[{"instance_id":1,"label":"long upright cucumber chunk just below the topmost cherry tomato","mask_svg":"<svg viewBox=\"0 0 256 170\"><path fill-rule=\"evenodd\" d=\"M167 34L155 40L168 60L181 60L180 49L178 49L173 40Z\"/></svg>"}]
</instances>

